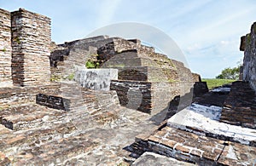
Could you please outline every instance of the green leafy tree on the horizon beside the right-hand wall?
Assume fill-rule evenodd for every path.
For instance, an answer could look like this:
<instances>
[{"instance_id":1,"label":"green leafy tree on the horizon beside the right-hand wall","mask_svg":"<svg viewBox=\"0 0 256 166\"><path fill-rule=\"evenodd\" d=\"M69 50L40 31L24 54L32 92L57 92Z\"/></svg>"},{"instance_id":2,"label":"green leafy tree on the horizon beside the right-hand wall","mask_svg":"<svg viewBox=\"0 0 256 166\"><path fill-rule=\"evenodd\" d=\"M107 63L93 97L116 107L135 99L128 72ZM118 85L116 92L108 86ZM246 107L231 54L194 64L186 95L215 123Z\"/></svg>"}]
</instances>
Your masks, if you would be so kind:
<instances>
[{"instance_id":1,"label":"green leafy tree on the horizon beside the right-hand wall","mask_svg":"<svg viewBox=\"0 0 256 166\"><path fill-rule=\"evenodd\" d=\"M216 78L218 79L239 79L240 66L234 68L225 68L221 74L219 74Z\"/></svg>"}]
</instances>

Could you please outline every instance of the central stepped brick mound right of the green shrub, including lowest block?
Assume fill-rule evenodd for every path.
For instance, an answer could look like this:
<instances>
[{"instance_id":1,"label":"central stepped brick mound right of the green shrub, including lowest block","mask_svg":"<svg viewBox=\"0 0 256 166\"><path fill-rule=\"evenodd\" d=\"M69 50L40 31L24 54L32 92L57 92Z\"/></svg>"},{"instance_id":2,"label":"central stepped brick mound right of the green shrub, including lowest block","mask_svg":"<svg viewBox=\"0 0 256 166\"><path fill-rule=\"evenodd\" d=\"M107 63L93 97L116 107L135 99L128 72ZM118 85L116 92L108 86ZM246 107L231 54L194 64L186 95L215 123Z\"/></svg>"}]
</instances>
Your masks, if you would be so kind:
<instances>
[{"instance_id":1,"label":"central stepped brick mound right of the green shrub, including lowest block","mask_svg":"<svg viewBox=\"0 0 256 166\"><path fill-rule=\"evenodd\" d=\"M141 112L164 112L179 95L189 95L191 101L194 82L201 81L182 62L155 53L139 40L114 39L97 52L104 60L102 68L119 69L119 80L113 80L110 89L117 91L120 104ZM144 84L150 86L142 89Z\"/></svg>"}]
</instances>

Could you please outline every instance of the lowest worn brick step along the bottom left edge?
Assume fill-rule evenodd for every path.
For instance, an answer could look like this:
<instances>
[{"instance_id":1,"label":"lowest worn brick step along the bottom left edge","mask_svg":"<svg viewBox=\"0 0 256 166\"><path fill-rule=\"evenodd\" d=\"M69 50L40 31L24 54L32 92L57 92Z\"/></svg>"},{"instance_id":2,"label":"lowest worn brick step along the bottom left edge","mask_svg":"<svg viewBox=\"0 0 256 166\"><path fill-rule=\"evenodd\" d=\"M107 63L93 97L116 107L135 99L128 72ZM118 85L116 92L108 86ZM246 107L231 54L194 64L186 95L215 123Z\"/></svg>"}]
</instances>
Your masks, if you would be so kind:
<instances>
[{"instance_id":1,"label":"lowest worn brick step along the bottom left edge","mask_svg":"<svg viewBox=\"0 0 256 166\"><path fill-rule=\"evenodd\" d=\"M17 165L57 165L65 163L68 158L81 157L95 146L96 142L80 135L26 149L20 152L15 159Z\"/></svg>"}]
</instances>

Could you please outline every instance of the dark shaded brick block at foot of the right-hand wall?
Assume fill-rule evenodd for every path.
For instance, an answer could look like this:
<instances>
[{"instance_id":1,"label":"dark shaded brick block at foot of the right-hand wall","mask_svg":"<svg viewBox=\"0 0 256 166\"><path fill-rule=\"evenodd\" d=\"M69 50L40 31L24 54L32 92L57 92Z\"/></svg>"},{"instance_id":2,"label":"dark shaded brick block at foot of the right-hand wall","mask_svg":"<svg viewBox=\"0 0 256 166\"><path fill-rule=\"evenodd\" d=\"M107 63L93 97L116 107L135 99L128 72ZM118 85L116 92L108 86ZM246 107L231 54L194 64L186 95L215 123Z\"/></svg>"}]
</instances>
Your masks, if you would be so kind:
<instances>
[{"instance_id":1,"label":"dark shaded brick block at foot of the right-hand wall","mask_svg":"<svg viewBox=\"0 0 256 166\"><path fill-rule=\"evenodd\" d=\"M224 101L220 122L256 129L256 94L250 83L232 83L230 94Z\"/></svg>"}]
</instances>

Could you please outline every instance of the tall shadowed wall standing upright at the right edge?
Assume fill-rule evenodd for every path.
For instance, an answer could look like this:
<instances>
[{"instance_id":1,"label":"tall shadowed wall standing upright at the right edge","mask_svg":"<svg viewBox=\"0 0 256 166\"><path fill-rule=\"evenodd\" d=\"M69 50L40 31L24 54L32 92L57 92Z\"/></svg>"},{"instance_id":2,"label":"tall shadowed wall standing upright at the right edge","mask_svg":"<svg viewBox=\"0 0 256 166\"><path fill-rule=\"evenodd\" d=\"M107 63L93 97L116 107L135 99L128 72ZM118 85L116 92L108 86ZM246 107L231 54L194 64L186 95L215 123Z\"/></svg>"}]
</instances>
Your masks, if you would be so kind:
<instances>
[{"instance_id":1,"label":"tall shadowed wall standing upright at the right edge","mask_svg":"<svg viewBox=\"0 0 256 166\"><path fill-rule=\"evenodd\" d=\"M256 22L251 27L251 32L241 37L241 50L244 50L242 79L249 81L256 91Z\"/></svg>"}]
</instances>

